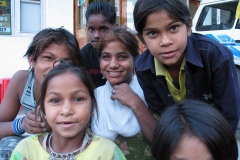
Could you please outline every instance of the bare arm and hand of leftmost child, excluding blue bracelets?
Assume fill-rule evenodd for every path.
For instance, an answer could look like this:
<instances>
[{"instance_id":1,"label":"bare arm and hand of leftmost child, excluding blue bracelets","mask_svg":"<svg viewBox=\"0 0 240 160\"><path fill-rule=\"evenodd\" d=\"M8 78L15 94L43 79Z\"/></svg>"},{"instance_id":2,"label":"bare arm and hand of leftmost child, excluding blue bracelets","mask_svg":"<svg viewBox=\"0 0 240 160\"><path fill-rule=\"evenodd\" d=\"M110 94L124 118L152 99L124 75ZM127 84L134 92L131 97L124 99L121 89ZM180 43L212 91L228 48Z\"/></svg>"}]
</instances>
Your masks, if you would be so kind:
<instances>
[{"instance_id":1,"label":"bare arm and hand of leftmost child, excluding blue bracelets","mask_svg":"<svg viewBox=\"0 0 240 160\"><path fill-rule=\"evenodd\" d=\"M4 99L0 105L0 139L15 135L12 130L13 120L16 118L20 99L27 82L29 71L16 72L8 85ZM22 128L28 133L41 133L45 123L35 122L35 111L30 111L22 122ZM45 131L46 129L43 129Z\"/></svg>"}]
</instances>

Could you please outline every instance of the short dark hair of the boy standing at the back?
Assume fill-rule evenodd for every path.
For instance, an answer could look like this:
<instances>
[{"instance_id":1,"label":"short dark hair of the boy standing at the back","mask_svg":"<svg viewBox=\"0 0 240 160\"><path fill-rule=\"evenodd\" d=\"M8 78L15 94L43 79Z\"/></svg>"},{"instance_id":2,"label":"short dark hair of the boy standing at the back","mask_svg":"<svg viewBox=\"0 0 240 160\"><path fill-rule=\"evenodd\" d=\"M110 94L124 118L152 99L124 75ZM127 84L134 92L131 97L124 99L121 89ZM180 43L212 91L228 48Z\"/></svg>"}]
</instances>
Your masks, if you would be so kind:
<instances>
[{"instance_id":1,"label":"short dark hair of the boy standing at the back","mask_svg":"<svg viewBox=\"0 0 240 160\"><path fill-rule=\"evenodd\" d=\"M86 10L85 17L86 21L91 15L102 14L106 21L110 24L116 24L117 8L112 6L110 3L105 2L93 2L91 3Z\"/></svg>"}]
</instances>

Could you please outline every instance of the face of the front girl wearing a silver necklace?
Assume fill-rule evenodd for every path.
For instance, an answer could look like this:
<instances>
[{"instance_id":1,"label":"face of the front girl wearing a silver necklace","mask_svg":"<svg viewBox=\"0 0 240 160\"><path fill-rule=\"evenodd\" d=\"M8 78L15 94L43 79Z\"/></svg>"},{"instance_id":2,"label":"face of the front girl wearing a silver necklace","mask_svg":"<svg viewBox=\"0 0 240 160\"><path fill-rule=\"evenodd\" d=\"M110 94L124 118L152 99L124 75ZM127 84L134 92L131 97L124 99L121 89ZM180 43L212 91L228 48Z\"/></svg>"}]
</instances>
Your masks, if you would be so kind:
<instances>
[{"instance_id":1,"label":"face of the front girl wearing a silver necklace","mask_svg":"<svg viewBox=\"0 0 240 160\"><path fill-rule=\"evenodd\" d=\"M91 97L78 76L71 72L53 77L44 100L46 119L58 138L79 138L92 115Z\"/></svg>"}]
</instances>

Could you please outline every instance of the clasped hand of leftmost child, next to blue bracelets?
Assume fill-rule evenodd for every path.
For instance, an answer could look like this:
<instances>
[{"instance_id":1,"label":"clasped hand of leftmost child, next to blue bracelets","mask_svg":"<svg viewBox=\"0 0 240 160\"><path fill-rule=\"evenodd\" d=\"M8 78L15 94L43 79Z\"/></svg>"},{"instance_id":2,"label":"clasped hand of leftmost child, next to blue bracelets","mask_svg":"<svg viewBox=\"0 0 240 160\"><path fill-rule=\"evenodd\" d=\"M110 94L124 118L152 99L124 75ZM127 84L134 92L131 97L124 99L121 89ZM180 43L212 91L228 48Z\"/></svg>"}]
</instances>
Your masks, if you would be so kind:
<instances>
[{"instance_id":1,"label":"clasped hand of leftmost child, next to blue bracelets","mask_svg":"<svg viewBox=\"0 0 240 160\"><path fill-rule=\"evenodd\" d=\"M22 128L30 134L44 133L51 130L44 116L40 116L39 107L37 107L36 112L35 110L28 112L23 119Z\"/></svg>"}]
</instances>

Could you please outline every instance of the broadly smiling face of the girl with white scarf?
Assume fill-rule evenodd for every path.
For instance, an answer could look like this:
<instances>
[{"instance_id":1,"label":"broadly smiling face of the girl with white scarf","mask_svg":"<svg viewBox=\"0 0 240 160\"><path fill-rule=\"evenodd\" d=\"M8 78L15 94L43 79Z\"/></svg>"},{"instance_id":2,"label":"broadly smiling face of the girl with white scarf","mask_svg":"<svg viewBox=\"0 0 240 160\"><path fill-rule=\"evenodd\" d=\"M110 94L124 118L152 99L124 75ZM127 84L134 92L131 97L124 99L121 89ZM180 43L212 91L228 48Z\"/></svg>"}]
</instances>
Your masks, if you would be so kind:
<instances>
[{"instance_id":1,"label":"broadly smiling face of the girl with white scarf","mask_svg":"<svg viewBox=\"0 0 240 160\"><path fill-rule=\"evenodd\" d=\"M120 41L111 41L104 46L100 68L111 85L129 84L133 74L133 57Z\"/></svg>"}]
</instances>

